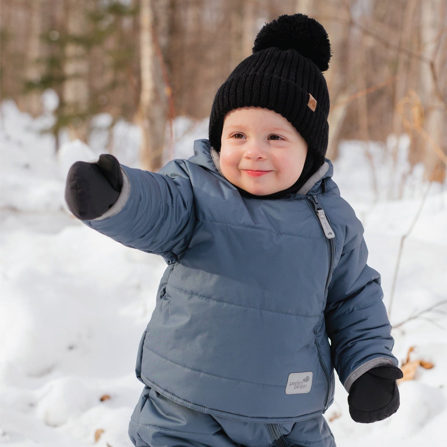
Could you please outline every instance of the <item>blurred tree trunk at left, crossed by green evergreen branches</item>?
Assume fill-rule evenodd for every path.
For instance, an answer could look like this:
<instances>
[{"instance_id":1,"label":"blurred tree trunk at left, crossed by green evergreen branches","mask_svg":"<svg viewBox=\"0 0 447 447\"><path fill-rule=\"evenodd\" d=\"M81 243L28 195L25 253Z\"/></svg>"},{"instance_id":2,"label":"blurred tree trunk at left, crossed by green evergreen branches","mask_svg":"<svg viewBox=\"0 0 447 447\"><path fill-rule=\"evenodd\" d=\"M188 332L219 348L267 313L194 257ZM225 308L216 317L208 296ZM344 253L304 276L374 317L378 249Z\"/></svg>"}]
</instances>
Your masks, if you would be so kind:
<instances>
[{"instance_id":1,"label":"blurred tree trunk at left, crossed by green evergreen branches","mask_svg":"<svg viewBox=\"0 0 447 447\"><path fill-rule=\"evenodd\" d=\"M71 37L81 37L85 33L84 0L65 0L67 33ZM89 107L89 63L83 46L76 42L65 47L64 73L67 76L63 84L63 98L66 114L76 116L87 113ZM82 118L70 119L68 125L70 139L87 138L87 123Z\"/></svg>"}]
</instances>

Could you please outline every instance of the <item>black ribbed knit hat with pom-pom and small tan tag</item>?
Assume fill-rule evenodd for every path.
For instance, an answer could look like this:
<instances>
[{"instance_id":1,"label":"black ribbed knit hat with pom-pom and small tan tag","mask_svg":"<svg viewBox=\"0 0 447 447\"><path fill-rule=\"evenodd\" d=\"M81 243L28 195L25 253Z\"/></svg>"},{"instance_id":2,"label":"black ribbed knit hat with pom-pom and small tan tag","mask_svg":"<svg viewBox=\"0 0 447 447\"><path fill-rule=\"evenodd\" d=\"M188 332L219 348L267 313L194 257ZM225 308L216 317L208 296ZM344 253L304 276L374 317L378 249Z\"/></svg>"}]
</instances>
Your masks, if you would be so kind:
<instances>
[{"instance_id":1,"label":"black ribbed knit hat with pom-pom and small tan tag","mask_svg":"<svg viewBox=\"0 0 447 447\"><path fill-rule=\"evenodd\" d=\"M304 15L282 15L257 34L244 59L216 93L209 140L220 151L223 118L240 107L263 107L286 118L308 143L307 164L323 164L328 147L329 92L322 72L331 49L320 23Z\"/></svg>"}]
</instances>

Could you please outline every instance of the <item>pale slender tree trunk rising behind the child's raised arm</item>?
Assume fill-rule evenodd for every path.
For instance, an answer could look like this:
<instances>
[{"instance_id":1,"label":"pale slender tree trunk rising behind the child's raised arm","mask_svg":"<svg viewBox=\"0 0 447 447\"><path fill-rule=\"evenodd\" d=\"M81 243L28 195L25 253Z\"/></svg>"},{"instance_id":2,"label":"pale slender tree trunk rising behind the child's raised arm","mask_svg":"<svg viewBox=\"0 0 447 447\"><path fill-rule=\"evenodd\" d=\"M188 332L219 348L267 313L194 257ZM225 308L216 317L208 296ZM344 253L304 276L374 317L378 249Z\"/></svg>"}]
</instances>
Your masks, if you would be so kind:
<instances>
[{"instance_id":1,"label":"pale slender tree trunk rising behind the child's raised arm","mask_svg":"<svg viewBox=\"0 0 447 447\"><path fill-rule=\"evenodd\" d=\"M141 93L136 121L141 127L140 160L143 169L158 171L164 147L166 114L156 98L157 55L153 39L152 0L140 3L140 67Z\"/></svg>"}]
</instances>

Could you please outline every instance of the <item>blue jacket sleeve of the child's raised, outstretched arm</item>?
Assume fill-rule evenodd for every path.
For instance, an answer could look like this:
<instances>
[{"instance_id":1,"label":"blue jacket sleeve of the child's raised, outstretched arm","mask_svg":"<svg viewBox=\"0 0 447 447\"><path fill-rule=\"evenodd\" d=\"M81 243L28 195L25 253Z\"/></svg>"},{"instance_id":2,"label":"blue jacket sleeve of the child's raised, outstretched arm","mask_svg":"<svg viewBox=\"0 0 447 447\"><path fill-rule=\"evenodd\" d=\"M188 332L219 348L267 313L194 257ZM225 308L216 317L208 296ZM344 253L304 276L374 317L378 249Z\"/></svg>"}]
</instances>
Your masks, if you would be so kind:
<instances>
[{"instance_id":1,"label":"blue jacket sleeve of the child's raised, outstretched arm","mask_svg":"<svg viewBox=\"0 0 447 447\"><path fill-rule=\"evenodd\" d=\"M169 174L121 165L123 187L117 202L86 225L127 247L163 256L168 264L187 249L196 214L184 160L172 160ZM160 171L162 172L162 171Z\"/></svg>"}]
</instances>

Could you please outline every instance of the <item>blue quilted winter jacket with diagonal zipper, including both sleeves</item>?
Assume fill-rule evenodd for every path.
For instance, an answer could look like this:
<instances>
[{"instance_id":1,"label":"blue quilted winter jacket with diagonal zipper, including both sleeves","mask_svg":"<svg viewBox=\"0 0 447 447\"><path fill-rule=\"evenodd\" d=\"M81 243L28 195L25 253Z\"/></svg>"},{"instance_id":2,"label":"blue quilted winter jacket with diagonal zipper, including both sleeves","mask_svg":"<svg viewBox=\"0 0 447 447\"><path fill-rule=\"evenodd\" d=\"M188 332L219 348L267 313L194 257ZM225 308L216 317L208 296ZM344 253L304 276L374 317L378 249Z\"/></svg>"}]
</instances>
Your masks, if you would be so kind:
<instances>
[{"instance_id":1,"label":"blue quilted winter jacket with diagonal zipper, including both sleeves","mask_svg":"<svg viewBox=\"0 0 447 447\"><path fill-rule=\"evenodd\" d=\"M349 391L397 366L380 275L330 160L269 200L241 196L207 139L159 173L122 172L118 202L84 223L168 264L139 346L143 383L204 413L293 422L325 413L334 368Z\"/></svg>"}]
</instances>

